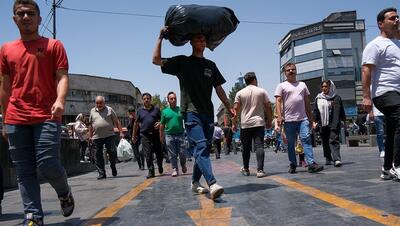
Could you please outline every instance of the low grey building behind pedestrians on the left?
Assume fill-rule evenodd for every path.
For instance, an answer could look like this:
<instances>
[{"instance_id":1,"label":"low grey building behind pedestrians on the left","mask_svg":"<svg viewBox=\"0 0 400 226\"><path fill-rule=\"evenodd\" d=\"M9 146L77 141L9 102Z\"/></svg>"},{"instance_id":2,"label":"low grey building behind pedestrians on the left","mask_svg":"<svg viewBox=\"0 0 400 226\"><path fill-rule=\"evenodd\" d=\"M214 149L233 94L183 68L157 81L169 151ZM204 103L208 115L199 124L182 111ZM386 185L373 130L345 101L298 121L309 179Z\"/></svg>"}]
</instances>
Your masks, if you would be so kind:
<instances>
[{"instance_id":1,"label":"low grey building behind pedestrians on the left","mask_svg":"<svg viewBox=\"0 0 400 226\"><path fill-rule=\"evenodd\" d=\"M89 115L96 96L104 96L123 126L129 122L127 111L142 105L142 94L130 81L83 74L69 74L69 91L63 123L74 122L79 113Z\"/></svg>"}]
</instances>

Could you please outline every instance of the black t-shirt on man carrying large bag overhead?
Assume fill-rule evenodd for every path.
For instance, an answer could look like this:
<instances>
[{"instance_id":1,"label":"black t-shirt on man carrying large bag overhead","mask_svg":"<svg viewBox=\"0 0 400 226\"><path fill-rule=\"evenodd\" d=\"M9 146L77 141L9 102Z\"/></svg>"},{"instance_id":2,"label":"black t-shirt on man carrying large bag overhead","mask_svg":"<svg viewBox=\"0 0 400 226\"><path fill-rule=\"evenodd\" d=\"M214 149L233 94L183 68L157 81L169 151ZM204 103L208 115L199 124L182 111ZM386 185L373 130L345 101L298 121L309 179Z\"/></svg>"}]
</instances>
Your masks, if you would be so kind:
<instances>
[{"instance_id":1,"label":"black t-shirt on man carrying large bag overhead","mask_svg":"<svg viewBox=\"0 0 400 226\"><path fill-rule=\"evenodd\" d=\"M161 70L179 79L181 112L214 116L212 88L225 83L214 62L206 58L180 55L164 59Z\"/></svg>"}]
</instances>

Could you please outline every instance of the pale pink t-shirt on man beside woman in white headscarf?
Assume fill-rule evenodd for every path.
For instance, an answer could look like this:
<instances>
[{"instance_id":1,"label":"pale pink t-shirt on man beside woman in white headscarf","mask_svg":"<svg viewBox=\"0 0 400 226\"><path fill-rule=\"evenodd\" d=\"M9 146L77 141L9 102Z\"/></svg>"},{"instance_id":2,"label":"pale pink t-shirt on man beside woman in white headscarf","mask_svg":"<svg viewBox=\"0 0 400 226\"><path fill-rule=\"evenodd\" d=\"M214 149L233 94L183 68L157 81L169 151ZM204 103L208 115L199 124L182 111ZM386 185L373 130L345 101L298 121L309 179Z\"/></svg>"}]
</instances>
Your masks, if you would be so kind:
<instances>
[{"instance_id":1,"label":"pale pink t-shirt on man beside woman in white headscarf","mask_svg":"<svg viewBox=\"0 0 400 226\"><path fill-rule=\"evenodd\" d=\"M310 95L304 82L288 81L279 83L275 90L275 97L280 96L283 102L283 116L285 122L298 122L307 119L304 99Z\"/></svg>"}]
</instances>

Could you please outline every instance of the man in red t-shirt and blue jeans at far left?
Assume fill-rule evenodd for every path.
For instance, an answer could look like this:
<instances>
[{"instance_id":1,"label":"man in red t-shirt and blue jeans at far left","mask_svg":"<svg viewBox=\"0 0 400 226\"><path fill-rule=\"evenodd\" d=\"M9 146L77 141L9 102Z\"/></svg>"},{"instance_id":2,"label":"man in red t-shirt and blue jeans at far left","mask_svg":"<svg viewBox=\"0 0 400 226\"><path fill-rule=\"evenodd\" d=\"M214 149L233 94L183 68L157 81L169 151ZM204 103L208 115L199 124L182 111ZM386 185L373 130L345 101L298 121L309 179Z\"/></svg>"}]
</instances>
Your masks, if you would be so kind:
<instances>
[{"instance_id":1,"label":"man in red t-shirt and blue jeans at far left","mask_svg":"<svg viewBox=\"0 0 400 226\"><path fill-rule=\"evenodd\" d=\"M60 122L68 92L68 60L62 43L41 37L34 0L16 0L13 20L21 38L0 50L3 135L8 137L24 204L24 225L43 225L36 168L50 182L67 217L74 199L60 164Z\"/></svg>"}]
</instances>

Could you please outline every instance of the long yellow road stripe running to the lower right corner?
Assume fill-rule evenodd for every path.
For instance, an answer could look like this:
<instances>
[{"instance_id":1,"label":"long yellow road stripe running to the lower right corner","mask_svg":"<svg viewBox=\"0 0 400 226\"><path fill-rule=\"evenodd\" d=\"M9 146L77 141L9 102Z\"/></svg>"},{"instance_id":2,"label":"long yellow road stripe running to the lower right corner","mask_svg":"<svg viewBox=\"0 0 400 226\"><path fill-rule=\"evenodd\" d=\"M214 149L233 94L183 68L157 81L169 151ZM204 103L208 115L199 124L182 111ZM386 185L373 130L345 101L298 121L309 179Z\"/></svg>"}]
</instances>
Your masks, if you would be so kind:
<instances>
[{"instance_id":1,"label":"long yellow road stripe running to the lower right corner","mask_svg":"<svg viewBox=\"0 0 400 226\"><path fill-rule=\"evenodd\" d=\"M334 206L338 206L342 209L345 209L355 215L362 216L373 220L375 222L385 224L385 225L400 225L400 217L393 214L386 214L382 210L378 210L366 205L362 205L353 201L346 200L344 198L338 197L336 195L332 195L327 192L320 191L316 188L306 186L300 184L298 182L294 182L292 180L288 180L278 176L269 176L268 179L279 182L283 185L286 185L295 190L301 191L305 194L308 194L312 197L325 201Z\"/></svg>"}]
</instances>

